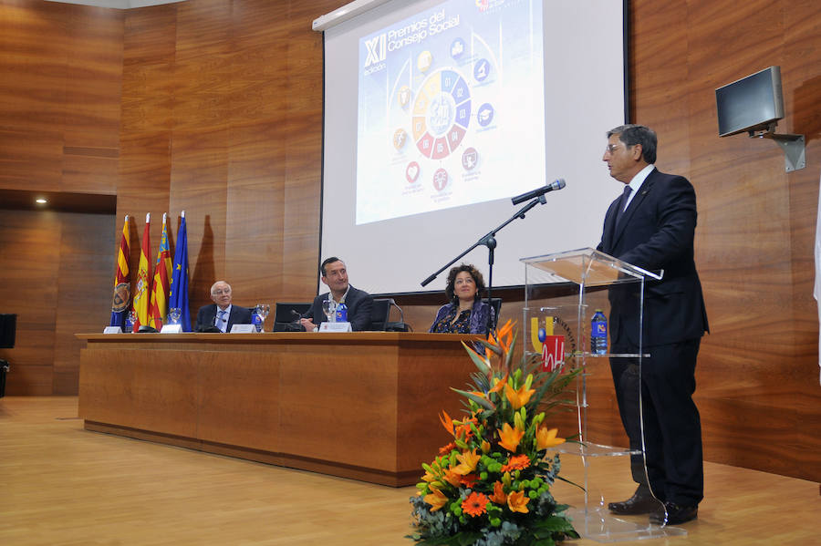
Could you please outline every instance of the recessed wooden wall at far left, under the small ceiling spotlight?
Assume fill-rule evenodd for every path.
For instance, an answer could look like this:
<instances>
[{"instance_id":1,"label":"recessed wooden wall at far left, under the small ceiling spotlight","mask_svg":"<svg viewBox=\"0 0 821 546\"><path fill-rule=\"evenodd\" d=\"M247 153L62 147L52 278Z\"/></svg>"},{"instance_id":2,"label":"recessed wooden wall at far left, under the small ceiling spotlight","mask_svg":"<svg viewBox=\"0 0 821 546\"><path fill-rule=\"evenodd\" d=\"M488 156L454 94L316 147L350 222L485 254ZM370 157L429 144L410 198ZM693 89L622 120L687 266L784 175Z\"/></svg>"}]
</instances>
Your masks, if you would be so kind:
<instances>
[{"instance_id":1,"label":"recessed wooden wall at far left, under the small ceiling spotlight","mask_svg":"<svg viewBox=\"0 0 821 546\"><path fill-rule=\"evenodd\" d=\"M108 214L0 211L0 301L17 314L8 395L76 395L75 334L109 324L114 254Z\"/></svg>"}]
</instances>

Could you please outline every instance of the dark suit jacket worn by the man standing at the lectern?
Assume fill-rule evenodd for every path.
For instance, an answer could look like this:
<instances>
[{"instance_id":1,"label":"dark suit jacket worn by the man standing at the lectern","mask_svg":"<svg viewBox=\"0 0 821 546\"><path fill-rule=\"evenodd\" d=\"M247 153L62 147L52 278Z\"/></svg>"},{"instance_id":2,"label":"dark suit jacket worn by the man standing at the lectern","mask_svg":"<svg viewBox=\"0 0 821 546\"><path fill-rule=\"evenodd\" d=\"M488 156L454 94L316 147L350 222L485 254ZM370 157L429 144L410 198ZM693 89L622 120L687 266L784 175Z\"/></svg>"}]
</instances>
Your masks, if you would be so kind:
<instances>
[{"instance_id":1,"label":"dark suit jacket worn by the man standing at the lectern","mask_svg":"<svg viewBox=\"0 0 821 546\"><path fill-rule=\"evenodd\" d=\"M620 202L618 198L608 208L598 250L651 272L664 270L661 281L645 284L642 345L678 343L709 332L693 261L696 199L691 183L652 170L617 229L615 213ZM612 287L609 298L611 344L638 345L638 283Z\"/></svg>"}]
</instances>

